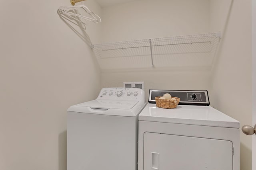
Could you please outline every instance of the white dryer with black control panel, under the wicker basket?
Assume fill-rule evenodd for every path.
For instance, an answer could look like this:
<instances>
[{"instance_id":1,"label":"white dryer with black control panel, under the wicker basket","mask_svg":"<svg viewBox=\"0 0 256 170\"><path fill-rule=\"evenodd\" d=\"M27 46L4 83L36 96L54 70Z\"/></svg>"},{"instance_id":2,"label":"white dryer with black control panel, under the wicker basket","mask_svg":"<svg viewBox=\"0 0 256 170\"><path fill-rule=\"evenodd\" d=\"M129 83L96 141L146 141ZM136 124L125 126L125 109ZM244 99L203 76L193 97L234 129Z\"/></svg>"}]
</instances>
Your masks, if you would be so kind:
<instances>
[{"instance_id":1,"label":"white dryer with black control panel, under the wicker basket","mask_svg":"<svg viewBox=\"0 0 256 170\"><path fill-rule=\"evenodd\" d=\"M180 104L156 107L165 93ZM138 170L239 170L240 123L209 104L207 91L150 90L139 115Z\"/></svg>"}]
</instances>

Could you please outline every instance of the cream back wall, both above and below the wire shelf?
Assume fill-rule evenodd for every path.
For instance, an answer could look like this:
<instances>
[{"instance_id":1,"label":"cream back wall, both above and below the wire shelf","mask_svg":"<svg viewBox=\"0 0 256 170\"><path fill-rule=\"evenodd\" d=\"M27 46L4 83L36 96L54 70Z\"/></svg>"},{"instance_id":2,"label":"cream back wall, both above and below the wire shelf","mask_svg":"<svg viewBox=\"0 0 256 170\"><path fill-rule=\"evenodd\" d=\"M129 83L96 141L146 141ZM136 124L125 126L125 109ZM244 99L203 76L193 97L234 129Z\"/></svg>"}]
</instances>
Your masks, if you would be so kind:
<instances>
[{"instance_id":1,"label":"cream back wall, both above and below the wire shelf","mask_svg":"<svg viewBox=\"0 0 256 170\"><path fill-rule=\"evenodd\" d=\"M208 33L209 10L210 3L206 0L140 0L105 7L102 42ZM204 68L108 70L102 72L101 80L102 87L144 81L146 98L149 89L210 90L210 71Z\"/></svg>"}]
</instances>

